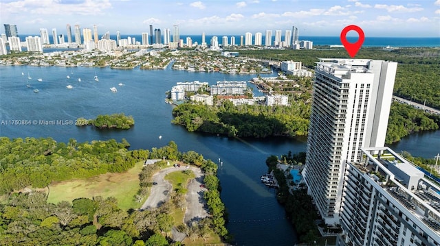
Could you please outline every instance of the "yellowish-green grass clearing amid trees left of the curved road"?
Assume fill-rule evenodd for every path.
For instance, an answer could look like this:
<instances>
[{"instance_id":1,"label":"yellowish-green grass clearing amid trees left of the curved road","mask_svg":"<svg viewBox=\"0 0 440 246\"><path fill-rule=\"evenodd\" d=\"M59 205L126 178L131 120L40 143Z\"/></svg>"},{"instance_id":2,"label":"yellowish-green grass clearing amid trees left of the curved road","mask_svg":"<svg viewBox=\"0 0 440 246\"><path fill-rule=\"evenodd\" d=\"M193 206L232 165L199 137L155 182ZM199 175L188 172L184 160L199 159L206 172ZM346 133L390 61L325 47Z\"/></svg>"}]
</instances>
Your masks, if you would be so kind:
<instances>
[{"instance_id":1,"label":"yellowish-green grass clearing amid trees left of the curved road","mask_svg":"<svg viewBox=\"0 0 440 246\"><path fill-rule=\"evenodd\" d=\"M139 173L144 162L137 162L135 167L125 173L104 173L85 180L70 180L51 184L49 186L48 203L57 204L59 201L69 201L80 197L89 199L102 197L115 197L118 206L123 210L139 208L142 204L134 201L133 197L139 189Z\"/></svg>"}]
</instances>

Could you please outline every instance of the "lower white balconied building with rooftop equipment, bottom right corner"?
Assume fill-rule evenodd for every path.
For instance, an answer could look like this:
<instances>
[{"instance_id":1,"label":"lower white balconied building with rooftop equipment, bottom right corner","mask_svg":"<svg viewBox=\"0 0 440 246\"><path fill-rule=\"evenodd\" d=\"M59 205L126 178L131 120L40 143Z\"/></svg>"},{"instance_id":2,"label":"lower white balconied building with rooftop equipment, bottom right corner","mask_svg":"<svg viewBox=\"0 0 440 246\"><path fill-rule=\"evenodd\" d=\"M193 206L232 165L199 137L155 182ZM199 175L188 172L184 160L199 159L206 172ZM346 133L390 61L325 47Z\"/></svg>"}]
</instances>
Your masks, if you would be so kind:
<instances>
[{"instance_id":1,"label":"lower white balconied building with rooftop equipment, bottom right corner","mask_svg":"<svg viewBox=\"0 0 440 246\"><path fill-rule=\"evenodd\" d=\"M337 245L440 245L440 184L388 147L348 162Z\"/></svg>"}]
</instances>

